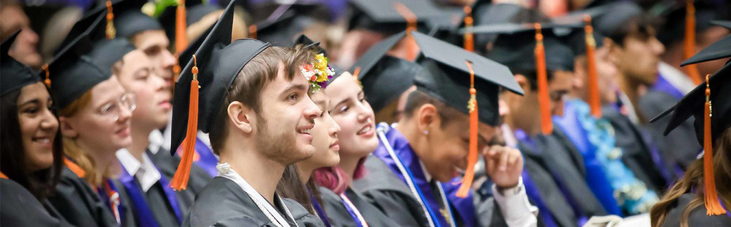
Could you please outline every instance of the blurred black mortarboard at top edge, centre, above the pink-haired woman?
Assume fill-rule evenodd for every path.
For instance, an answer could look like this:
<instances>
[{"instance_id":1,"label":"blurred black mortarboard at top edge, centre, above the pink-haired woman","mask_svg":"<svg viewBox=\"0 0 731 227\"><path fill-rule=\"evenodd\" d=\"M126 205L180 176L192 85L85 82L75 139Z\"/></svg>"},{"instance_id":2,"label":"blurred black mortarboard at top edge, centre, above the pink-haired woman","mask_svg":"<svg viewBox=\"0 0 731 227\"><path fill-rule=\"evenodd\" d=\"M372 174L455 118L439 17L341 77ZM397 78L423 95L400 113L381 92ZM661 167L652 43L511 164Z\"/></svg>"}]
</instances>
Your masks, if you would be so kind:
<instances>
[{"instance_id":1,"label":"blurred black mortarboard at top edge, centre, above the pink-haired woman","mask_svg":"<svg viewBox=\"0 0 731 227\"><path fill-rule=\"evenodd\" d=\"M353 0L348 30L366 28L383 33L396 33L406 29L406 19L396 9L395 4L404 4L417 17L417 23L424 23L433 17L442 17L432 1L428 0Z\"/></svg>"}]
</instances>

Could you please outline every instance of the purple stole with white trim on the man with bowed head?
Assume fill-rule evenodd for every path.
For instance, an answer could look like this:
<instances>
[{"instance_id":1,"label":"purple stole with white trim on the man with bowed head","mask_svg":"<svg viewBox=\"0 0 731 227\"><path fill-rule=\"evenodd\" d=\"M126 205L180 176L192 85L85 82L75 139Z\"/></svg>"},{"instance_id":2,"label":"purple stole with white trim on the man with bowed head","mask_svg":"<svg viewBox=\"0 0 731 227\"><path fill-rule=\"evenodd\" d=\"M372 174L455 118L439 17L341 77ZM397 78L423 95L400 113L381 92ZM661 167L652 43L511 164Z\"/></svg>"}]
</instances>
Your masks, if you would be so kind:
<instances>
[{"instance_id":1,"label":"purple stole with white trim on the man with bowed head","mask_svg":"<svg viewBox=\"0 0 731 227\"><path fill-rule=\"evenodd\" d=\"M425 212L426 219L429 222L429 226L433 227L442 227L442 221L444 223L447 223L450 226L455 226L455 220L454 215L452 215L452 210L450 209L449 201L447 201L447 197L444 196L444 190L442 190L442 186L439 186L437 184L437 188L439 189L439 196L442 199L442 203L444 204L444 209L446 210L440 210L439 214L433 210L433 207L431 207L431 204L427 204L429 200L425 196L424 190L430 190L428 192L431 192L430 188L425 188L424 190L417 186L417 178L414 177L411 170L404 166L404 162L401 161L401 158L398 156L398 154L393 151L393 146L391 146L391 143L386 138L386 132L390 130L390 126L385 123L381 123L376 127L376 133L378 135L379 140L383 144L383 146L386 148L388 158L392 159L395 163L396 170L398 171L396 174L400 174L402 177L404 177L404 182L406 183L406 186L409 187L410 191L412 192L412 196L417 199L419 204L421 205L422 209ZM431 194L430 194L431 196ZM437 205L437 209L439 206Z\"/></svg>"}]
</instances>

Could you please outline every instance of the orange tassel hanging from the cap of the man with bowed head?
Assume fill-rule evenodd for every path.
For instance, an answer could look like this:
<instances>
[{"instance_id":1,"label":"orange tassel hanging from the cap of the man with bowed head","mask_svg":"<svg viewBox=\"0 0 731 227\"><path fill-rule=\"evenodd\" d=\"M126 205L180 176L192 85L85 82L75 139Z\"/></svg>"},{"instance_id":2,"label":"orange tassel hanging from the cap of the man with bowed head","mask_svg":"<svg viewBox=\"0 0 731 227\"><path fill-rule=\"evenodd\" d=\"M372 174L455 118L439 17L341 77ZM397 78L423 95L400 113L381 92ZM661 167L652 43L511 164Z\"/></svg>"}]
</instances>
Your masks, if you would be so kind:
<instances>
[{"instance_id":1,"label":"orange tassel hanging from the cap of the man with bowed head","mask_svg":"<svg viewBox=\"0 0 731 227\"><path fill-rule=\"evenodd\" d=\"M462 178L462 185L457 190L457 196L465 198L472 187L474 180L474 164L477 163L477 124L480 119L477 118L477 89L474 89L474 69L472 63L466 60L467 68L469 68L469 101L467 101L467 109L469 109L469 156L467 156L467 170Z\"/></svg>"}]
</instances>

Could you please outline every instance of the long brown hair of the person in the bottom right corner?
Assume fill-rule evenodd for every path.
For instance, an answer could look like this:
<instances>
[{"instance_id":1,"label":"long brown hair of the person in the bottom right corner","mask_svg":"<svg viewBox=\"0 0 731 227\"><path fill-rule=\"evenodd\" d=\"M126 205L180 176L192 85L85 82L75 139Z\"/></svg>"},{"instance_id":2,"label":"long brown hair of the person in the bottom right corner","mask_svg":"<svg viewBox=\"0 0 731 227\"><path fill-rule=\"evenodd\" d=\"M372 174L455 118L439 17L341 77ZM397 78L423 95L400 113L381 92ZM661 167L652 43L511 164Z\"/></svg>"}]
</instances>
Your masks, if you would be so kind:
<instances>
[{"instance_id":1,"label":"long brown hair of the person in the bottom right corner","mask_svg":"<svg viewBox=\"0 0 731 227\"><path fill-rule=\"evenodd\" d=\"M716 190L724 204L731 204L731 127L727 128L713 145L713 172L716 173ZM697 188L695 198L687 207L683 208L680 217L681 227L689 227L688 218L690 212L702 206L703 188L703 159L697 159L689 165L685 175L678 183L675 183L665 196L652 207L650 218L653 227L660 227L665 221L667 212L673 210L678 204L678 198L683 194Z\"/></svg>"}]
</instances>

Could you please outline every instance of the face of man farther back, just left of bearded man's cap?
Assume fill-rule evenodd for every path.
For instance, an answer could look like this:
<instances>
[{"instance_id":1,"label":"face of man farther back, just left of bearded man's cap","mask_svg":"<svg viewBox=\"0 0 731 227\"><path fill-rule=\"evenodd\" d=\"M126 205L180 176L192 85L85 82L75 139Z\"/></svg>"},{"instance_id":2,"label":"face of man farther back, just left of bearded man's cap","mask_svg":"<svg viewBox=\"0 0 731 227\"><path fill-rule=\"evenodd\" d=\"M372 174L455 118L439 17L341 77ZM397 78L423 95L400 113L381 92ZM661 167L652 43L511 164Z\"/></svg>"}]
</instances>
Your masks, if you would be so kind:
<instances>
[{"instance_id":1,"label":"face of man farther back, just left of bearded man's cap","mask_svg":"<svg viewBox=\"0 0 731 227\"><path fill-rule=\"evenodd\" d=\"M148 30L135 34L134 41L137 49L142 49L145 54L150 57L157 76L167 81L168 86L173 86L173 66L176 59L173 54L167 50L170 46L170 40L167 40L165 31Z\"/></svg>"}]
</instances>

